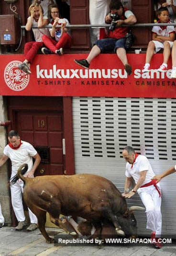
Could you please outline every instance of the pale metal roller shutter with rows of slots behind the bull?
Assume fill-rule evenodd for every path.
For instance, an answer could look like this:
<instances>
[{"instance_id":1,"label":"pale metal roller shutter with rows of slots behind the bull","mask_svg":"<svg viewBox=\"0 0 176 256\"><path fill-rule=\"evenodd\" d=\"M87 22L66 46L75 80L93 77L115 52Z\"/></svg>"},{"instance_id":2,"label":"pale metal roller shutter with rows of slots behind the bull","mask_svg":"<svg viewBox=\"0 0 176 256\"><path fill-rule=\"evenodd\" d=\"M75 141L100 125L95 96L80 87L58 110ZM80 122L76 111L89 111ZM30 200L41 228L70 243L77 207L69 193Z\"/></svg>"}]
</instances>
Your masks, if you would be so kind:
<instances>
[{"instance_id":1,"label":"pale metal roller shutter with rows of slots behind the bull","mask_svg":"<svg viewBox=\"0 0 176 256\"><path fill-rule=\"evenodd\" d=\"M176 99L73 98L76 173L94 173L110 179L123 192L125 160L122 149L132 146L145 155L155 174L176 164ZM162 187L163 234L176 234L176 174ZM143 206L138 196L128 206ZM146 230L146 214L136 211L138 233Z\"/></svg>"}]
</instances>

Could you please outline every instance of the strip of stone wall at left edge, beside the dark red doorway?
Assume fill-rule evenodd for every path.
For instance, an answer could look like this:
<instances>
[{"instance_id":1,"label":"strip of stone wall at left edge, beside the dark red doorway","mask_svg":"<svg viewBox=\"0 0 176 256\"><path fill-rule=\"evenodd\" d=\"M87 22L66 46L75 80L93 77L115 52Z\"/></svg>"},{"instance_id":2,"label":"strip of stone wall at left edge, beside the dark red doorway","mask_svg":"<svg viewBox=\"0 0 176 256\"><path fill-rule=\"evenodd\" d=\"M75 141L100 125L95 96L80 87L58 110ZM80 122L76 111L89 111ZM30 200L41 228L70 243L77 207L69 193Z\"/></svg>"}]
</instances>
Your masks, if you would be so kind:
<instances>
[{"instance_id":1,"label":"strip of stone wall at left edge, beside the dark red doorway","mask_svg":"<svg viewBox=\"0 0 176 256\"><path fill-rule=\"evenodd\" d=\"M7 121L7 108L5 98L0 96L0 122ZM6 127L0 126L0 158L3 154L3 149L7 144ZM10 189L7 187L9 180L8 163L0 167L0 204L2 207L2 214L5 219L5 224L11 225L11 196Z\"/></svg>"}]
</instances>

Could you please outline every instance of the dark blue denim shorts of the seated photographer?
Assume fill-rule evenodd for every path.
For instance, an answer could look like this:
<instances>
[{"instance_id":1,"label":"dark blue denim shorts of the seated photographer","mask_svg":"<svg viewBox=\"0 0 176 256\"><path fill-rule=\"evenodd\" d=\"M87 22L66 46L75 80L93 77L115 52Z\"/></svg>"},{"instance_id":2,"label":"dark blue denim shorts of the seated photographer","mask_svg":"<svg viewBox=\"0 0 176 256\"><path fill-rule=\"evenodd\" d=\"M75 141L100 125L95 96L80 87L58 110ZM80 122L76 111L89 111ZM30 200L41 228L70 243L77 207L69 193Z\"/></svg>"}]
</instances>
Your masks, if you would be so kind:
<instances>
[{"instance_id":1,"label":"dark blue denim shorts of the seated photographer","mask_svg":"<svg viewBox=\"0 0 176 256\"><path fill-rule=\"evenodd\" d=\"M125 42L126 38L105 38L105 39L99 39L95 42L95 45L99 47L101 52L103 51L112 51L114 50L116 52L117 48L124 48L125 49Z\"/></svg>"}]
</instances>

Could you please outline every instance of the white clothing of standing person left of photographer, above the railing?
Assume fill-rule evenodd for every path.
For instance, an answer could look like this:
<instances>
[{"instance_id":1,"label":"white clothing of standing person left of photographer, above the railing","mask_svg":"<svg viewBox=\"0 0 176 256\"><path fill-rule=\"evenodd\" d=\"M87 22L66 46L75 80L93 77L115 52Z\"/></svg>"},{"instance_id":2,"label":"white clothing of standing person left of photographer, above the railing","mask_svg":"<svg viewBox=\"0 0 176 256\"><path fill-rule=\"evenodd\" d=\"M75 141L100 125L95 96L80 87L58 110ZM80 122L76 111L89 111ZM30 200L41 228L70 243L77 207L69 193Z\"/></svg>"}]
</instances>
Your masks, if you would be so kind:
<instances>
[{"instance_id":1,"label":"white clothing of standing person left of photographer, above the railing","mask_svg":"<svg viewBox=\"0 0 176 256\"><path fill-rule=\"evenodd\" d=\"M111 0L89 0L90 24L105 24L105 16L110 12Z\"/></svg>"}]
</instances>

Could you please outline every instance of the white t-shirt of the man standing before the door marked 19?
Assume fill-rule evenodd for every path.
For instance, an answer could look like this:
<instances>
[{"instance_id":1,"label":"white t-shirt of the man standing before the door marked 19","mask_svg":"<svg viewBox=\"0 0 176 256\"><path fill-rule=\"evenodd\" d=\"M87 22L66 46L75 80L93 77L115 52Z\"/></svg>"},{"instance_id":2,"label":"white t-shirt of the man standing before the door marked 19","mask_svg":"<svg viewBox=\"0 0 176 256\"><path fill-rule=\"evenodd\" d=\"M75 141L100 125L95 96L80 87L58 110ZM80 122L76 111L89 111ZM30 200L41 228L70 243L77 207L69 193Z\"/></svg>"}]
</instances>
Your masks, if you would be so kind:
<instances>
[{"instance_id":1,"label":"white t-shirt of the man standing before the door marked 19","mask_svg":"<svg viewBox=\"0 0 176 256\"><path fill-rule=\"evenodd\" d=\"M22 145L18 149L5 146L3 154L11 159L12 176L17 173L22 164L28 164L28 171L33 168L33 157L37 154L35 148L28 142L21 141Z\"/></svg>"}]
</instances>

